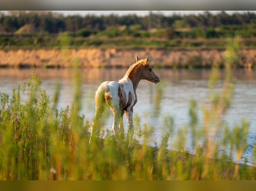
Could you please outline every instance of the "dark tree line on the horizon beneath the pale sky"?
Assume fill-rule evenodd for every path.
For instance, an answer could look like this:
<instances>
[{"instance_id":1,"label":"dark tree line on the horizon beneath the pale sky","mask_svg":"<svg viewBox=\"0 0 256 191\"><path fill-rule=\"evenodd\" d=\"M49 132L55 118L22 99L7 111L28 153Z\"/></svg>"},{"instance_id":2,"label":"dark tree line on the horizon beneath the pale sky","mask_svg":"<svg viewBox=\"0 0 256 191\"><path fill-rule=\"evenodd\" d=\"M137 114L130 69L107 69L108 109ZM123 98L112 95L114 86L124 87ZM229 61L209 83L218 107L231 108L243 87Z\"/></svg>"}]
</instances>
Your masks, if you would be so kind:
<instances>
[{"instance_id":1,"label":"dark tree line on the horizon beneath the pale sky","mask_svg":"<svg viewBox=\"0 0 256 191\"><path fill-rule=\"evenodd\" d=\"M212 14L206 11L202 14L180 15L173 14L165 16L158 13L151 13L147 16L132 15L69 15L63 16L59 13L50 11L9 11L7 14L0 12L0 33L14 33L22 26L30 24L39 32L74 33L81 29L88 31L105 31L114 26L139 26L140 30L158 29L177 29L177 28L217 28L225 26L235 26L235 30L243 29L243 26L252 26L256 28L256 14L253 12L227 14L221 11L218 14ZM240 28L239 28L240 26ZM232 30L232 28L227 28Z\"/></svg>"}]
</instances>

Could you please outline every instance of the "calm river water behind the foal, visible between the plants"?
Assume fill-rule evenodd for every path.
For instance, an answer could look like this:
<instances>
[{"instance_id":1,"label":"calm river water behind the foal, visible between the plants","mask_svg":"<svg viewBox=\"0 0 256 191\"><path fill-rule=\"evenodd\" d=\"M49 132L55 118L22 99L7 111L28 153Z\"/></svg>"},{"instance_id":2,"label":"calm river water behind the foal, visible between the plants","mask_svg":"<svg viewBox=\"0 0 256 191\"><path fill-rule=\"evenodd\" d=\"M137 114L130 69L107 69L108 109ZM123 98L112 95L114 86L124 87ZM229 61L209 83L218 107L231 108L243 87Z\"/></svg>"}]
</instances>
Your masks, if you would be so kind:
<instances>
[{"instance_id":1,"label":"calm river water behind the foal, visible between the plants","mask_svg":"<svg viewBox=\"0 0 256 191\"><path fill-rule=\"evenodd\" d=\"M104 81L118 81L126 73L127 69L81 69L80 74L83 79L83 99L82 111L86 119L92 121L94 116L94 93L98 86ZM163 117L172 115L174 117L174 135L169 141L169 149L176 148L177 129L187 125L189 122L188 109L189 101L194 98L198 101L199 117L202 120L203 106L209 104L209 89L208 79L211 70L197 69L197 70L172 70L172 69L155 69L154 72L160 77L160 83L153 85L146 81L141 81L137 88L138 102L134 106L134 115L140 117L140 126L147 123L153 128L150 144L157 145L161 143L161 137L164 132L161 130L163 124ZM223 117L223 120L228 122L230 127L235 124L240 124L241 120L245 118L249 121L248 145L243 158L248 160L248 164L255 165L255 158L253 156L253 148L256 140L256 71L237 69L234 70L234 76L237 79L234 96L232 98L231 107ZM220 71L217 80L215 91L221 91L224 81L224 71ZM7 92L12 95L12 89L16 84L29 79L32 75L32 69L0 69L0 92ZM56 83L61 84L60 98L58 102L59 108L65 108L71 105L73 100L73 72L71 69L36 69L35 76L42 81L41 88L46 90L47 95L52 98ZM157 86L163 86L163 95L160 102L159 113L154 113L154 103ZM105 117L105 129L112 131L113 116L110 113L109 117ZM124 116L124 127L128 123ZM125 128L127 131L127 128ZM134 135L137 135L138 128L135 127ZM137 138L138 139L138 138ZM187 137L186 148L193 153L191 147L191 137ZM220 148L221 149L221 148ZM234 156L235 159L235 156Z\"/></svg>"}]
</instances>

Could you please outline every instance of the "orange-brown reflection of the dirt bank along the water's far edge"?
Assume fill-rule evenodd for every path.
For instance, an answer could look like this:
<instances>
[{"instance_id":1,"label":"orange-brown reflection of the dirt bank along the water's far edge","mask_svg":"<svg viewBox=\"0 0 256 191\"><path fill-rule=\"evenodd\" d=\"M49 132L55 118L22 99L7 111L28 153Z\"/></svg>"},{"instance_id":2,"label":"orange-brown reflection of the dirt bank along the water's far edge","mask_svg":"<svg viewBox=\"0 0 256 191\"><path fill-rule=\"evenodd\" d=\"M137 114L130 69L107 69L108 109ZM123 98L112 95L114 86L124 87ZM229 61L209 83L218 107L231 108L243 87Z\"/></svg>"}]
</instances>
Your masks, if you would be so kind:
<instances>
[{"instance_id":1,"label":"orange-brown reflection of the dirt bank along the water's far edge","mask_svg":"<svg viewBox=\"0 0 256 191\"><path fill-rule=\"evenodd\" d=\"M126 68L114 68L114 69L104 69L104 68L88 68L80 69L81 76L84 80L119 80L126 73ZM0 68L0 78L15 78L26 80L32 75L33 69L19 69L19 68ZM162 79L170 80L208 80L211 74L210 69L154 69L156 74L159 74ZM236 79L239 80L255 80L256 71L247 69L234 69L233 74ZM73 73L72 69L62 68L62 69L47 69L38 68L36 69L36 76L40 79L72 79ZM224 70L219 71L219 79L224 79Z\"/></svg>"}]
</instances>

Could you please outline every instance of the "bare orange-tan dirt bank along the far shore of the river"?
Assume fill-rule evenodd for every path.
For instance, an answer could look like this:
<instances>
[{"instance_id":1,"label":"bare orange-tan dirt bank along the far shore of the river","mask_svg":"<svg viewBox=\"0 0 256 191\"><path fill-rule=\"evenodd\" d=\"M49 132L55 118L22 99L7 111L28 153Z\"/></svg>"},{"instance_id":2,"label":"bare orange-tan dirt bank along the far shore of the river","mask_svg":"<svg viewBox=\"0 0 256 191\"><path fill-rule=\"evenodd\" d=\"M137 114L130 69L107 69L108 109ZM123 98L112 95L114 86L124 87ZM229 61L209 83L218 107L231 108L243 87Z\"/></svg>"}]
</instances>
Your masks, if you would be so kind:
<instances>
[{"instance_id":1,"label":"bare orange-tan dirt bank along the far shore of the river","mask_svg":"<svg viewBox=\"0 0 256 191\"><path fill-rule=\"evenodd\" d=\"M0 50L0 67L66 68L79 63L81 67L129 67L135 56L146 58L150 65L170 68L209 68L223 66L223 50L156 50L156 49L51 49ZM256 49L244 49L238 67L256 68Z\"/></svg>"}]
</instances>

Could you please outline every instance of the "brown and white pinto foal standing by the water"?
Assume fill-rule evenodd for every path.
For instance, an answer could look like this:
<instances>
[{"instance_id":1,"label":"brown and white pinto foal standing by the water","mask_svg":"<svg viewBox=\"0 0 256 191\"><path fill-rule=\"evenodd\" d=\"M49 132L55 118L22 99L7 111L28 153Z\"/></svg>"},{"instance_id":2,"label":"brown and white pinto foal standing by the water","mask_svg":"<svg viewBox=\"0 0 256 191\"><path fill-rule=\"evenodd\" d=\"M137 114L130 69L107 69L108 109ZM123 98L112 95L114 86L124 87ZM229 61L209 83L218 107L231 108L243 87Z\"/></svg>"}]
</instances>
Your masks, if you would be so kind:
<instances>
[{"instance_id":1,"label":"brown and white pinto foal standing by the water","mask_svg":"<svg viewBox=\"0 0 256 191\"><path fill-rule=\"evenodd\" d=\"M136 55L136 63L130 66L125 76L119 82L103 82L95 94L95 116L91 127L92 136L99 133L100 116L104 111L105 103L114 114L114 122L112 129L119 143L120 135L124 131L123 115L126 118L131 130L130 141L133 137L134 126L132 121L133 106L137 102L136 89L140 80L147 80L154 84L160 81L160 78L153 72L148 65L149 56L145 60L141 60ZM96 128L96 129L95 129ZM97 130L97 132L94 132ZM91 142L90 138L90 142Z\"/></svg>"}]
</instances>

